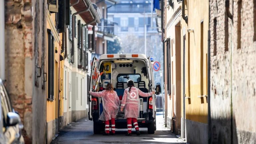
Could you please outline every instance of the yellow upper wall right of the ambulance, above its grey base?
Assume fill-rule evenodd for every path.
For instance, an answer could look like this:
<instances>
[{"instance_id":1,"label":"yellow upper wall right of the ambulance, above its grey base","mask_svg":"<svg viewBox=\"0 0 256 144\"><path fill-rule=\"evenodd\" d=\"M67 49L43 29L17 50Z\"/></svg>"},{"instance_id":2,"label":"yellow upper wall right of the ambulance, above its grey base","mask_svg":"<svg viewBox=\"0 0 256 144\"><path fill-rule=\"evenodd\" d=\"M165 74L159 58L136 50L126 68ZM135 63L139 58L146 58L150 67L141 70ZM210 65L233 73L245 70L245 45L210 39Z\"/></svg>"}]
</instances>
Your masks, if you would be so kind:
<instances>
[{"instance_id":1,"label":"yellow upper wall right of the ambulance, above its grey base","mask_svg":"<svg viewBox=\"0 0 256 144\"><path fill-rule=\"evenodd\" d=\"M185 100L186 119L207 123L207 49L209 29L209 2L187 0L185 13L188 24L182 19L181 28L186 29L185 50ZM203 54L201 58L201 22L203 22ZM187 29L194 32L188 33ZM183 39L183 38L182 38ZM183 47L183 43L182 43ZM183 55L183 51L182 51ZM201 65L201 61L203 61ZM203 69L201 72L201 68ZM203 83L201 84L201 79ZM202 91L202 92L201 92Z\"/></svg>"}]
</instances>

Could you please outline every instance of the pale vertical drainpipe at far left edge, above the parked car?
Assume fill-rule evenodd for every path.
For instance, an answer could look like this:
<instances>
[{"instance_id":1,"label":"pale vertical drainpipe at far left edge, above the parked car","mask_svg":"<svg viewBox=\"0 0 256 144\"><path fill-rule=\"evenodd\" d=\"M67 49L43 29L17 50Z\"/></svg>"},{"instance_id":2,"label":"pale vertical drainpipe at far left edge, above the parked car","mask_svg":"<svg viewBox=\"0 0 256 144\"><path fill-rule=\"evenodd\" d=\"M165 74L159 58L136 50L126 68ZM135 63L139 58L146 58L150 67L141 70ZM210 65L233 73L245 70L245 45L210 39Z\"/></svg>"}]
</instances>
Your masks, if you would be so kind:
<instances>
[{"instance_id":1,"label":"pale vertical drainpipe at far left edge, above the parked car","mask_svg":"<svg viewBox=\"0 0 256 144\"><path fill-rule=\"evenodd\" d=\"M4 40L4 1L1 0L1 12L0 12L0 79L5 80L5 40Z\"/></svg>"}]
</instances>

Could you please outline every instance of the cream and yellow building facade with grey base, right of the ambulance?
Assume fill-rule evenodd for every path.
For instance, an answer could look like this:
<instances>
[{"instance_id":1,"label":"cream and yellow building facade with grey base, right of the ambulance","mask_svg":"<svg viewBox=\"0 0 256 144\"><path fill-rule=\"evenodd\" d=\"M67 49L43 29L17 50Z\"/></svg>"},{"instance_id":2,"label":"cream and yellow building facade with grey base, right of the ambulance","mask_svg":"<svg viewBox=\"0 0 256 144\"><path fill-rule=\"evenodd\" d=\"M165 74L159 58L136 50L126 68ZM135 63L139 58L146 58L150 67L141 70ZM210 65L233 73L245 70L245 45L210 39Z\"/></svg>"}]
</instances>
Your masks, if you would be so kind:
<instances>
[{"instance_id":1,"label":"cream and yellow building facade with grey base, right of the ambulance","mask_svg":"<svg viewBox=\"0 0 256 144\"><path fill-rule=\"evenodd\" d=\"M208 141L208 6L164 3L166 126L190 143Z\"/></svg>"}]
</instances>

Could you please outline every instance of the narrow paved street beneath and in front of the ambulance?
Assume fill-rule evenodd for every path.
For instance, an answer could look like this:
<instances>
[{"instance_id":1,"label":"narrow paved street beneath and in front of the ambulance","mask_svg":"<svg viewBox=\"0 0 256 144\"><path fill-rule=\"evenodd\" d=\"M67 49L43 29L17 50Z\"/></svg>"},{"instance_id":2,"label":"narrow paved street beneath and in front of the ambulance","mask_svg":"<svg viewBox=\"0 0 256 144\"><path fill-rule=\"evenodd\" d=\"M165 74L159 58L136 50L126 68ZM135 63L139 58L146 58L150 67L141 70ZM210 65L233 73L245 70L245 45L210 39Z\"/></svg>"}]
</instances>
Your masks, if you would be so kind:
<instances>
[{"instance_id":1,"label":"narrow paved street beneath and in front of the ambulance","mask_svg":"<svg viewBox=\"0 0 256 144\"><path fill-rule=\"evenodd\" d=\"M65 126L59 135L52 141L52 144L106 144L106 143L123 143L123 144L161 144L161 143L185 143L177 138L169 129L164 127L162 112L157 113L157 130L155 134L147 134L147 128L140 128L141 135L137 136L132 129L132 136L125 136L126 129L117 129L115 136L103 136L102 134L93 134L93 122L88 118L83 118L77 122L72 122Z\"/></svg>"}]
</instances>

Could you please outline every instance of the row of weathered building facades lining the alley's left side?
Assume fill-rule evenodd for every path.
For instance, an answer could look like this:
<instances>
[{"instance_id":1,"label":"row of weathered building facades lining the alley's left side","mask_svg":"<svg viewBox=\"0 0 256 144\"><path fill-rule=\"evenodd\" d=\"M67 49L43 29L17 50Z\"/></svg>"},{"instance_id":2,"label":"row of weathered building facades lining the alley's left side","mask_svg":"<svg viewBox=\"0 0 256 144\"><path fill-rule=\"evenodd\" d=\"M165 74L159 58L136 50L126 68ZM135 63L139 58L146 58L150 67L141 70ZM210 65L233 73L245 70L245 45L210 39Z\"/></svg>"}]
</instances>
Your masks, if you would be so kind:
<instances>
[{"instance_id":1,"label":"row of weathered building facades lining the alley's left side","mask_svg":"<svg viewBox=\"0 0 256 144\"><path fill-rule=\"evenodd\" d=\"M79 15L72 27L74 13ZM26 143L50 143L61 127L86 116L89 35L82 24L93 27L100 19L90 0L5 1L1 79L24 124Z\"/></svg>"}]
</instances>

